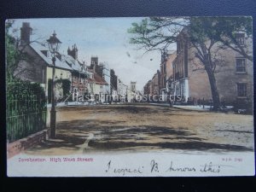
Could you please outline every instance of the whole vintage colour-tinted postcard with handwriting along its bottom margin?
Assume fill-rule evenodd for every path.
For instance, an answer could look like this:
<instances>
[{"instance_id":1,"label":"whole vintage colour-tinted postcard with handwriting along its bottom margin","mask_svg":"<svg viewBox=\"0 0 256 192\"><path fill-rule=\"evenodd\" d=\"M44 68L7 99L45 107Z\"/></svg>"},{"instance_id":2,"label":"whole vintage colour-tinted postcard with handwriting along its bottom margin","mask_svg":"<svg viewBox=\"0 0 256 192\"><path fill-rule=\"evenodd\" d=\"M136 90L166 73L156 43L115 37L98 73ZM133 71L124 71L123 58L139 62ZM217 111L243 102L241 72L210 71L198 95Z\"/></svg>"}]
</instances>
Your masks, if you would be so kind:
<instances>
[{"instance_id":1,"label":"whole vintage colour-tinted postcard with handwriting along its bottom margin","mask_svg":"<svg viewBox=\"0 0 256 192\"><path fill-rule=\"evenodd\" d=\"M253 176L252 17L5 22L9 177Z\"/></svg>"}]
</instances>

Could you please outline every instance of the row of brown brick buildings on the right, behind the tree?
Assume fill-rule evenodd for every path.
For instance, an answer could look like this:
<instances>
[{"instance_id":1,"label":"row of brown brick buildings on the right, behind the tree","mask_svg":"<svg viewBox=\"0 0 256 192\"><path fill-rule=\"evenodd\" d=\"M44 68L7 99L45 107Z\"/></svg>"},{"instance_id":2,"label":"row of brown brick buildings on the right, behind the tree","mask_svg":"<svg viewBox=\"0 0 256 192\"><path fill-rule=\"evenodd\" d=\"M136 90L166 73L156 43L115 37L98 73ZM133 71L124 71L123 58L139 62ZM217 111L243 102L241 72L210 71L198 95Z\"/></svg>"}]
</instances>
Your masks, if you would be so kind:
<instances>
[{"instance_id":1,"label":"row of brown brick buildings on the right, behind the tree","mask_svg":"<svg viewBox=\"0 0 256 192\"><path fill-rule=\"evenodd\" d=\"M244 32L236 33L236 40L247 54L253 55L252 38ZM212 47L218 53L215 60L215 79L220 101L225 104L236 102L253 103L253 61L233 49L219 49L219 44ZM176 51L162 52L160 70L144 85L144 94L162 96L182 96L180 102L196 104L201 101L211 102L212 92L207 72L195 57L195 48L189 42L189 35L180 32L177 36Z\"/></svg>"}]
</instances>

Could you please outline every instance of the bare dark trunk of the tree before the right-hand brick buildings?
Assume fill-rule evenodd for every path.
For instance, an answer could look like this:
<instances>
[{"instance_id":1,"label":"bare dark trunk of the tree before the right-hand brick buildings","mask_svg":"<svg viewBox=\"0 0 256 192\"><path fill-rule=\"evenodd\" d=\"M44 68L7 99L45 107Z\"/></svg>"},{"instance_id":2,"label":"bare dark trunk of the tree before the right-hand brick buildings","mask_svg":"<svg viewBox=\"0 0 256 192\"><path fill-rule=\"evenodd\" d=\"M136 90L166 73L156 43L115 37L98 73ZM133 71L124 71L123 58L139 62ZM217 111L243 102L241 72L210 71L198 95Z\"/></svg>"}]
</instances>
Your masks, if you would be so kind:
<instances>
[{"instance_id":1,"label":"bare dark trunk of the tree before the right-hand brick buildings","mask_svg":"<svg viewBox=\"0 0 256 192\"><path fill-rule=\"evenodd\" d=\"M212 91L213 110L217 111L220 107L220 101L219 101L219 96L218 96L216 79L215 79L214 73L212 72L211 67L209 67L208 65L205 65L205 69L207 71L207 75L208 75L208 79L209 79L211 91Z\"/></svg>"}]
</instances>

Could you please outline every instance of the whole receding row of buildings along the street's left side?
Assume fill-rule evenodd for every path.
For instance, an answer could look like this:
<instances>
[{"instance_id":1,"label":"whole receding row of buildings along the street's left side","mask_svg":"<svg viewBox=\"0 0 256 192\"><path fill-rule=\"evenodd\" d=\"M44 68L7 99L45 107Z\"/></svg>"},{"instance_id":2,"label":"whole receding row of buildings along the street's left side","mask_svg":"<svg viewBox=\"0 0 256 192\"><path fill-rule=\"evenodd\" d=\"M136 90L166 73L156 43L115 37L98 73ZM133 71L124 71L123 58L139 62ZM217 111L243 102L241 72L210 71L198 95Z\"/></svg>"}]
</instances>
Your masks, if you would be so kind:
<instances>
[{"instance_id":1,"label":"whole receding row of buildings along the street's left side","mask_svg":"<svg viewBox=\"0 0 256 192\"><path fill-rule=\"evenodd\" d=\"M24 22L20 28L20 49L26 54L26 60L20 61L15 76L20 79L41 84L48 101L51 101L51 79L53 73L52 55L46 44L32 42L32 27ZM70 82L65 90L64 80ZM74 44L67 48L67 55L55 54L55 98L59 102L131 102L136 93L136 82L124 84L108 63L99 62L97 56L91 56L90 65L79 61L79 49Z\"/></svg>"}]
</instances>

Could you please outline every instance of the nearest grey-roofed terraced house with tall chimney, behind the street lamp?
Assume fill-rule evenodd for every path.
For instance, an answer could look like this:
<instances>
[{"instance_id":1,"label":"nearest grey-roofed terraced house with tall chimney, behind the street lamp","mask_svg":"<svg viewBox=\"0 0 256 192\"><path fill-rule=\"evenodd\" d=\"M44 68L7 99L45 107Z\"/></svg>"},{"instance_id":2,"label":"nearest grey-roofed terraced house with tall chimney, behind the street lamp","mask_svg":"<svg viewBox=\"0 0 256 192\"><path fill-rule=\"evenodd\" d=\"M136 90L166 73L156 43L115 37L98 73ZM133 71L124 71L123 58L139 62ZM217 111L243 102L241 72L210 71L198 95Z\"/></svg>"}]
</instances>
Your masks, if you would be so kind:
<instances>
[{"instance_id":1,"label":"nearest grey-roofed terraced house with tall chimney, behind the street lamp","mask_svg":"<svg viewBox=\"0 0 256 192\"><path fill-rule=\"evenodd\" d=\"M20 28L19 49L26 55L26 59L21 60L18 64L15 76L41 84L50 102L52 56L46 44L30 40L31 34L30 23L24 22ZM78 96L84 96L84 92L88 90L87 77L89 72L84 63L78 60L76 45L73 45L73 49L67 49L67 55L56 53L55 59L55 97L57 101L64 101L67 96L72 96L71 93L73 93L73 100L77 99ZM63 79L70 82L68 90L63 90Z\"/></svg>"}]
</instances>

